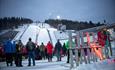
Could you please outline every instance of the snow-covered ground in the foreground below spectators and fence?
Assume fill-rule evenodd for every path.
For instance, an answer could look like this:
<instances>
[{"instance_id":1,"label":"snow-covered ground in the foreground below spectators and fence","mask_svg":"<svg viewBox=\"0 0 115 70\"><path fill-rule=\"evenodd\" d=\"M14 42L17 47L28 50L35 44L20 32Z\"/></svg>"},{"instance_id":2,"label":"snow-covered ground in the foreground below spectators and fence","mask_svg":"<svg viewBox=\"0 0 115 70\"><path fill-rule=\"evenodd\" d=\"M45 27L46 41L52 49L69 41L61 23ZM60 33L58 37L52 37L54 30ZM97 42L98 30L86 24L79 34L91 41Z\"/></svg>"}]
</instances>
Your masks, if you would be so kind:
<instances>
[{"instance_id":1,"label":"snow-covered ground in the foreground below spectators and fence","mask_svg":"<svg viewBox=\"0 0 115 70\"><path fill-rule=\"evenodd\" d=\"M23 67L7 67L5 62L0 63L0 70L70 70L70 64L66 63L66 57L62 58L61 62L56 61L56 57L52 62L47 60L36 60L36 65L28 67L28 60L23 60ZM71 70L115 70L115 61L113 59L107 59L104 61L94 62L90 64L80 64L74 66Z\"/></svg>"}]
</instances>

